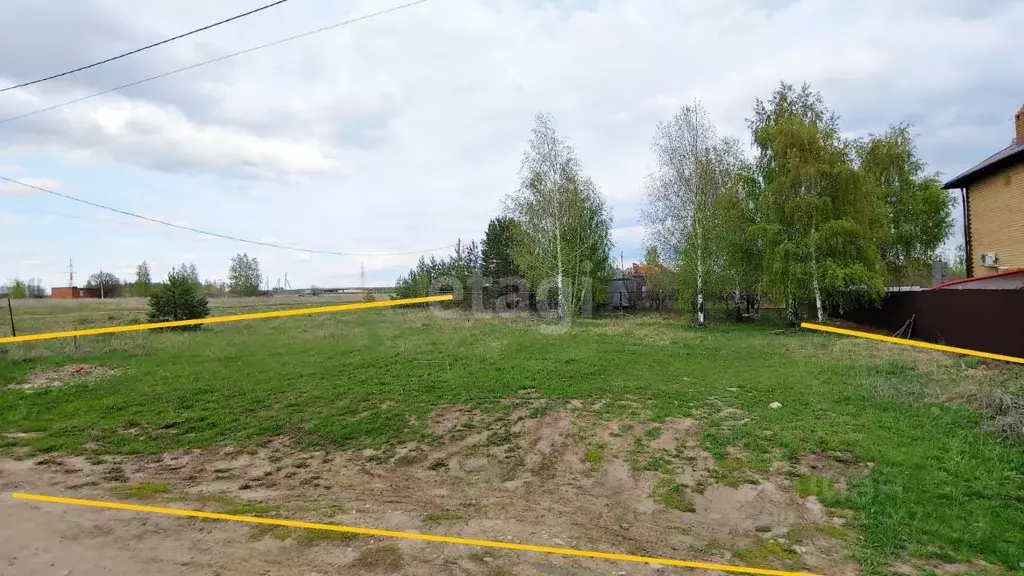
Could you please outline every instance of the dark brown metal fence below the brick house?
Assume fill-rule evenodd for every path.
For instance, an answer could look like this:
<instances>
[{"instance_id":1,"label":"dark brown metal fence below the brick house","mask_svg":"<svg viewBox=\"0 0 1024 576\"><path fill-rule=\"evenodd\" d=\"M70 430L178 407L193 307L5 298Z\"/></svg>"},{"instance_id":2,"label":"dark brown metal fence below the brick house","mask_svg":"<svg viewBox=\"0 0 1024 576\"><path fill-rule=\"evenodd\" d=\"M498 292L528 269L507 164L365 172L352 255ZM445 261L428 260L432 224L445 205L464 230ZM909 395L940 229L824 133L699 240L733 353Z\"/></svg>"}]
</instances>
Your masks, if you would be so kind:
<instances>
[{"instance_id":1,"label":"dark brown metal fence below the brick house","mask_svg":"<svg viewBox=\"0 0 1024 576\"><path fill-rule=\"evenodd\" d=\"M915 340L1024 357L1024 290L890 292L881 306L838 316L890 333L913 318Z\"/></svg>"}]
</instances>

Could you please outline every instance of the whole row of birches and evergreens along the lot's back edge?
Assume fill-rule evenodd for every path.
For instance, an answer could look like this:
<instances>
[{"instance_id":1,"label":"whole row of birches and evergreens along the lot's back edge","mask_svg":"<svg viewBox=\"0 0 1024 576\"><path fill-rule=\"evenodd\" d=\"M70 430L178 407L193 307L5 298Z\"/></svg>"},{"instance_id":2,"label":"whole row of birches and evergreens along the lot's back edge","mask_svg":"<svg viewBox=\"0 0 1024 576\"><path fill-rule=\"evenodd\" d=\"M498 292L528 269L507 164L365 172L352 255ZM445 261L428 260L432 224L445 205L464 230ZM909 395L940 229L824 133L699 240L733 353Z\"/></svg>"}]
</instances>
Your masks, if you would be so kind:
<instances>
[{"instance_id":1,"label":"whole row of birches and evergreens along the lot's back edge","mask_svg":"<svg viewBox=\"0 0 1024 576\"><path fill-rule=\"evenodd\" d=\"M910 125L850 137L819 92L780 82L755 100L748 128L752 156L699 101L655 127L640 210L651 291L671 291L698 324L710 300L740 319L750 302L770 301L795 323L800 303L821 320L928 274L953 199L927 171ZM459 285L494 305L524 283L560 317L600 301L621 274L611 214L547 115L536 118L519 176L479 245L421 258L396 295Z\"/></svg>"}]
</instances>

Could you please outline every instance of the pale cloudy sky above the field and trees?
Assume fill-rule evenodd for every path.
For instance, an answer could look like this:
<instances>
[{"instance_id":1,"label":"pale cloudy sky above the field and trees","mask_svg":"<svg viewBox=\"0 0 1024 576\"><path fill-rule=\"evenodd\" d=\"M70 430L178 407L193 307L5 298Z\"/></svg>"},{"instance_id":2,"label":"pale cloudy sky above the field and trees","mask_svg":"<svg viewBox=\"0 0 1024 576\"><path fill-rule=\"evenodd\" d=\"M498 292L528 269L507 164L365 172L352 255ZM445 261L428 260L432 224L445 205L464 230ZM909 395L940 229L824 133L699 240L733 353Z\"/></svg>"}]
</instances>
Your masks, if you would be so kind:
<instances>
[{"instance_id":1,"label":"pale cloudy sky above the field and trees","mask_svg":"<svg viewBox=\"0 0 1024 576\"><path fill-rule=\"evenodd\" d=\"M265 0L4 0L0 87L103 59ZM545 112L607 199L614 255L642 254L657 122L699 100L749 142L755 98L808 82L862 136L913 124L951 177L1010 143L1024 2L429 0L57 108L3 119L396 6L281 6L0 93L0 175L154 218L336 256L212 239L0 182L0 282L76 284L143 259L271 285L389 285L420 253L479 240ZM957 209L958 210L958 209ZM958 216L957 216L958 218ZM947 242L954 246L961 235ZM385 255L386 254L386 255ZM365 273L364 273L365 271Z\"/></svg>"}]
</instances>

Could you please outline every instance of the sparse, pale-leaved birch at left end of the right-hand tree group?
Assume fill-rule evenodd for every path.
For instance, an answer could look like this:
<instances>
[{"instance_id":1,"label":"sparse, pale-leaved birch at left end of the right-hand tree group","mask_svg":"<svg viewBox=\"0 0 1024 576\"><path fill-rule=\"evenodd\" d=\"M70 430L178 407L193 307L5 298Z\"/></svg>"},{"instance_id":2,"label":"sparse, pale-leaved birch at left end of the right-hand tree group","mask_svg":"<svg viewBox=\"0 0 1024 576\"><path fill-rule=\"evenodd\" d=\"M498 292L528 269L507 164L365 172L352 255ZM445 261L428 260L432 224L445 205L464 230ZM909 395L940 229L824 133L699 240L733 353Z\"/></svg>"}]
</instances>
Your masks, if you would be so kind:
<instances>
[{"instance_id":1,"label":"sparse, pale-leaved birch at left end of the right-hand tree group","mask_svg":"<svg viewBox=\"0 0 1024 576\"><path fill-rule=\"evenodd\" d=\"M722 264L719 198L733 186L742 154L735 139L718 134L699 102L659 123L651 149L655 168L647 176L641 209L647 242L692 286L681 293L694 295L696 321L703 326L705 292Z\"/></svg>"}]
</instances>

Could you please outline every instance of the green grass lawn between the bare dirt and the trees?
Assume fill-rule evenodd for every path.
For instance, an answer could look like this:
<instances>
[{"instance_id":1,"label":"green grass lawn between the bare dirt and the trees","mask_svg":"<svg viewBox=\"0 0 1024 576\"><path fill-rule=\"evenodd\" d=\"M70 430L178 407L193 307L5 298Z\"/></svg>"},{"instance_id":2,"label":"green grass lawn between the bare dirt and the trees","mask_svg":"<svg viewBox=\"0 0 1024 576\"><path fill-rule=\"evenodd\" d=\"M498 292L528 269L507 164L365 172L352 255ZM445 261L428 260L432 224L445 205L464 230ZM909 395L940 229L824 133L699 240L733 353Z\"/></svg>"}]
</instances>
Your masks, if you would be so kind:
<instances>
[{"instance_id":1,"label":"green grass lawn between the bare dirt and the trees","mask_svg":"<svg viewBox=\"0 0 1024 576\"><path fill-rule=\"evenodd\" d=\"M380 448L429 441L424 422L441 406L502 410L532 389L551 407L604 399L609 417L638 406L653 421L694 417L705 449L723 462L741 454L752 474L808 453L870 463L845 492L794 482L853 510L866 572L904 554L1024 566L1024 444L985 431L964 400L979 386L1020 394L1018 367L764 326L605 319L565 330L407 310L97 336L77 349L0 357L3 450L137 454L279 436ZM115 373L7 387L72 362ZM728 409L743 417L726 422Z\"/></svg>"}]
</instances>

